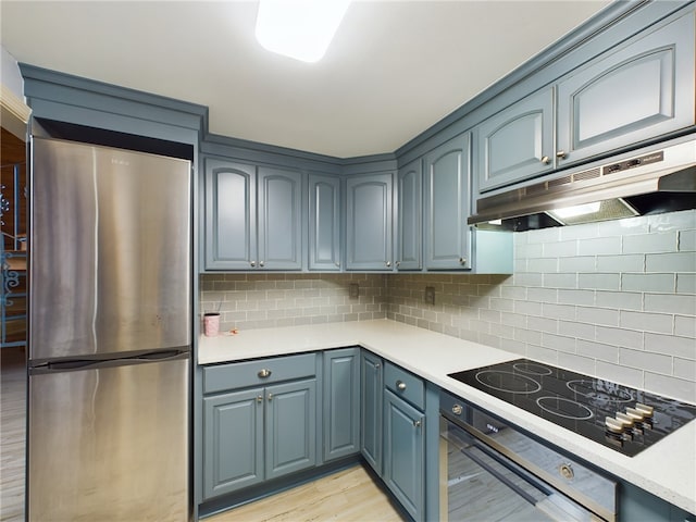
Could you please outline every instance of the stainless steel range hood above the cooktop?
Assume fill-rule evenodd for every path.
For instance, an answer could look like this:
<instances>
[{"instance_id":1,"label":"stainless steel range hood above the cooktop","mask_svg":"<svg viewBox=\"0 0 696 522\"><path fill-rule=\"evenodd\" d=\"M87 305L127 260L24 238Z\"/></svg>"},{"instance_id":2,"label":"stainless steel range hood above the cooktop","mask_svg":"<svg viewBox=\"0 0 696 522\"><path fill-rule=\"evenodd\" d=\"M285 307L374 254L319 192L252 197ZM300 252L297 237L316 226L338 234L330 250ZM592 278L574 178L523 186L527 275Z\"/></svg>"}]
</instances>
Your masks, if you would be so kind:
<instances>
[{"instance_id":1,"label":"stainless steel range hood above the cooktop","mask_svg":"<svg viewBox=\"0 0 696 522\"><path fill-rule=\"evenodd\" d=\"M475 207L469 224L504 220L512 229L696 209L696 140L692 135L662 148L622 154L498 191L478 199Z\"/></svg>"}]
</instances>

